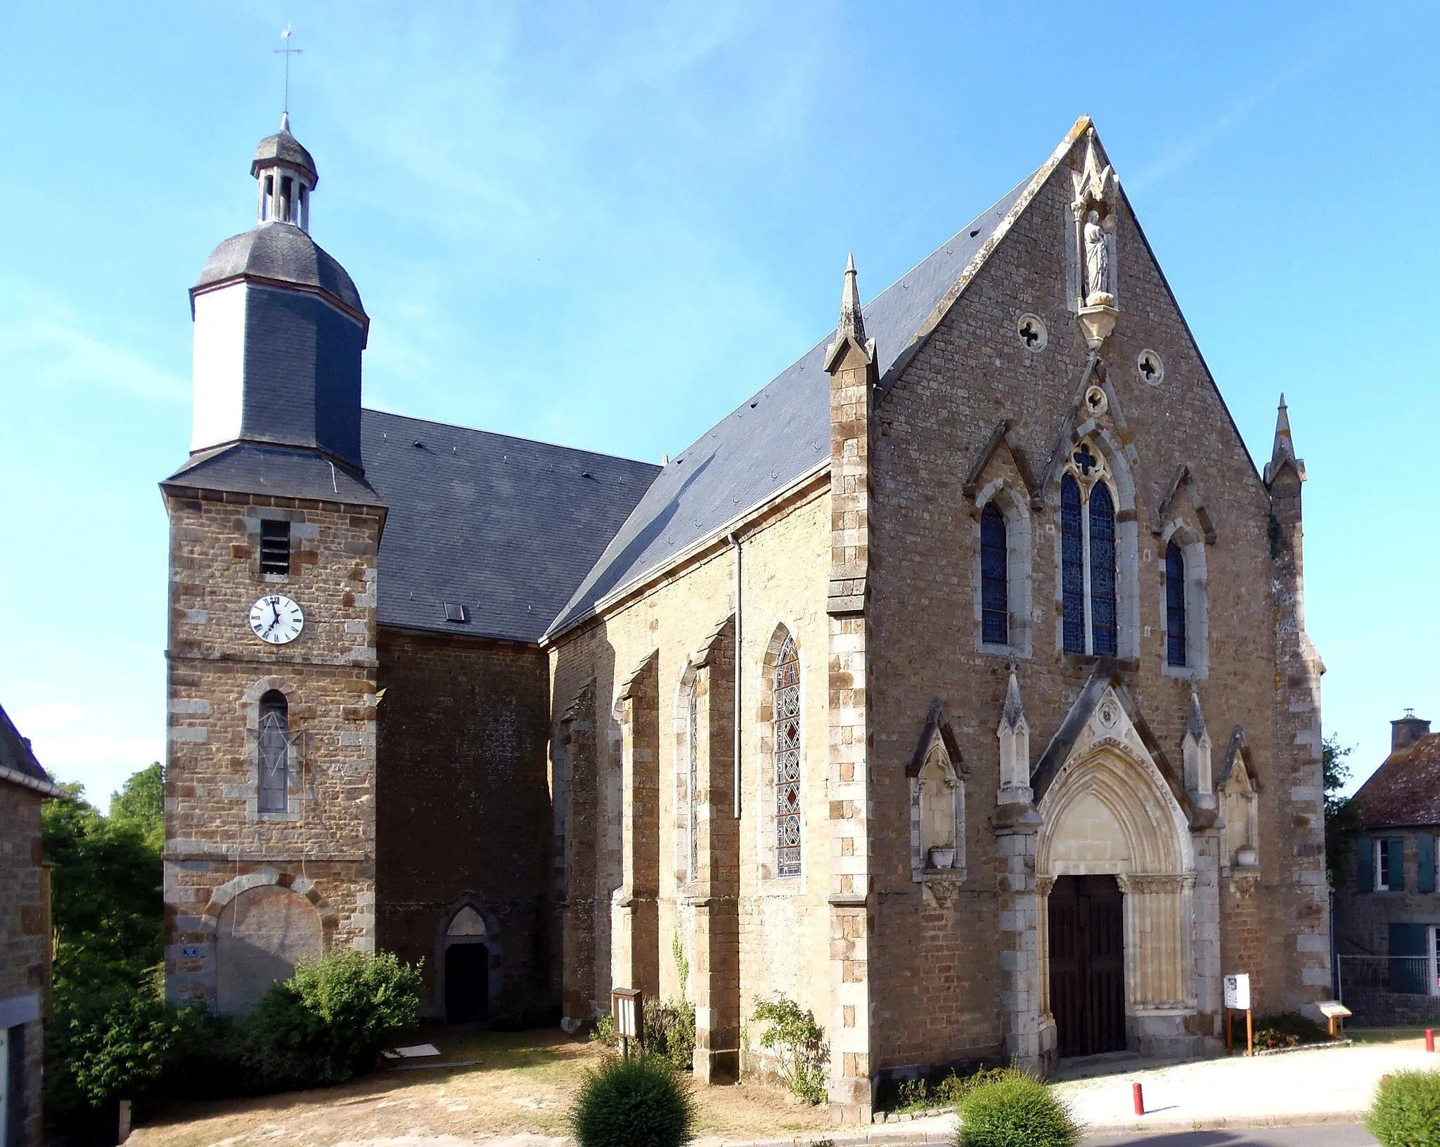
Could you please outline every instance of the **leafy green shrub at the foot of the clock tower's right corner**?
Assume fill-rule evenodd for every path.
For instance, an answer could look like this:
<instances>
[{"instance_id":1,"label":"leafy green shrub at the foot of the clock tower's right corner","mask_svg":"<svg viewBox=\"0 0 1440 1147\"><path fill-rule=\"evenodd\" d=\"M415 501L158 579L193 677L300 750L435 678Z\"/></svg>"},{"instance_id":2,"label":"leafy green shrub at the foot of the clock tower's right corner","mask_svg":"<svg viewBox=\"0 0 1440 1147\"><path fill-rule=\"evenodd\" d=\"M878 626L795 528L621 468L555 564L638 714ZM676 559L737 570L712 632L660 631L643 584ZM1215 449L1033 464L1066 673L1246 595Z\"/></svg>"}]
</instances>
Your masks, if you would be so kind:
<instances>
[{"instance_id":1,"label":"leafy green shrub at the foot of the clock tower's right corner","mask_svg":"<svg viewBox=\"0 0 1440 1147\"><path fill-rule=\"evenodd\" d=\"M268 1088L338 1084L369 1068L419 1006L419 967L390 953L304 960L246 1016L245 1059Z\"/></svg>"}]
</instances>

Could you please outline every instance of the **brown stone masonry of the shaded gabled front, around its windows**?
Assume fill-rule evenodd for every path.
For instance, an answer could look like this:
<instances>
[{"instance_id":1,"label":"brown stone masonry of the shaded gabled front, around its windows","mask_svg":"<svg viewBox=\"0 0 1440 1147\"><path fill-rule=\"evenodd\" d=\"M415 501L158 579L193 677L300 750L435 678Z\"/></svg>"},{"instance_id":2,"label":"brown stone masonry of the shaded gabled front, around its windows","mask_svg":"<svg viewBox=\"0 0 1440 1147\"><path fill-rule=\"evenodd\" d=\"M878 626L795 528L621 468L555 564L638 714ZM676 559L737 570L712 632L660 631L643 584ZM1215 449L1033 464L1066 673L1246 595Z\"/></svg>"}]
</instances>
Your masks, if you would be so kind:
<instances>
[{"instance_id":1,"label":"brown stone masonry of the shaded gabled front, around its windows","mask_svg":"<svg viewBox=\"0 0 1440 1147\"><path fill-rule=\"evenodd\" d=\"M1031 616L1018 620L1028 625L1031 642L1028 649L1008 653L976 652L978 512L962 491L965 475L1001 419L1009 420L1009 436L1038 481L1056 449L1057 426L1079 397L1089 351L1067 304L1070 199L1070 167L1061 163L876 412L870 622L876 743L871 863L880 892L871 963L877 1068L1001 1049L996 839L991 825L998 790L995 730L1007 663L1011 658L1018 663L1034 764L1094 662L1060 652L1054 486L1044 491L1043 508L1030 508L1025 475L1005 446L976 486L1001 481L1027 507ZM1194 488L1182 486L1161 504L1179 468L1188 466L1215 531L1205 551L1208 675L1198 681L1215 743L1215 770L1218 774L1224 745L1238 725L1260 773L1261 875L1251 894L1254 908L1246 908L1254 912L1247 925L1254 938L1244 950L1253 963L1224 970L1250 971L1257 1006L1277 1009L1302 987L1297 947L1312 938L1313 924L1313 889L1296 869L1293 848L1319 842L1319 826L1302 815L1309 804L1295 803L1309 799L1309 748L1277 740L1282 697L1276 686L1270 502L1128 204L1122 203L1119 216L1120 321L1102 355L1107 387L1125 419L1120 438L1132 450L1140 622L1139 659L1122 668L1178 771L1191 686L1164 665L1165 547L1153 528L1179 518L1202 532ZM1044 350L1030 350L1017 334L1024 312L1038 314L1047 324ZM1164 357L1158 387L1146 384L1136 368L1143 348ZM1112 417L1110 425L1115 422ZM936 698L953 715L969 767L968 879L945 895L912 881L904 774ZM1313 858L1300 865L1306 872L1315 866ZM1236 898L1225 897L1223 935L1234 927L1236 912ZM1306 935L1300 938L1299 931ZM1214 977L1218 969L1202 971ZM1201 1000L1200 1032L1218 1032L1217 1003Z\"/></svg>"}]
</instances>

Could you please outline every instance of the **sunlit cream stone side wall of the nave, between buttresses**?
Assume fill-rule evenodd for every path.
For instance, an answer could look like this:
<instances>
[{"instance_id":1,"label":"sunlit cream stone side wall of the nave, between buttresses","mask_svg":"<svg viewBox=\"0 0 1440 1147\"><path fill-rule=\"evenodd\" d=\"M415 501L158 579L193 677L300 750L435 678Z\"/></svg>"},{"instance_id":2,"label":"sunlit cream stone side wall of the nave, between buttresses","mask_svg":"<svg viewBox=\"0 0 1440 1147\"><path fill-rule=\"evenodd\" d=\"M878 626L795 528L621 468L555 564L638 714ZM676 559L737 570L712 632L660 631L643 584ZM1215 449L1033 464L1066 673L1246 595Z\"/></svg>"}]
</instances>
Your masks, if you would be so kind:
<instances>
[{"instance_id":1,"label":"sunlit cream stone side wall of the nave, between buttresses","mask_svg":"<svg viewBox=\"0 0 1440 1147\"><path fill-rule=\"evenodd\" d=\"M742 820L739 832L739 977L742 1017L749 1023L756 997L783 992L815 1012L824 1023L829 1009L829 881L827 712L827 579L829 567L829 499L819 479L782 509L742 530L742 633L740 633L740 721L742 721ZM671 956L677 921L694 912L693 899L677 878L677 769L688 771L681 682L687 663L710 639L717 626L734 613L734 553L724 543L698 554L690 564L660 584L563 635L550 649L553 712L564 714L582 699L586 686L595 691L595 730L572 731L582 751L595 756L595 810L570 820L572 829L593 826L590 840L573 840L586 863L593 856L593 891L567 882L572 911L588 917L583 907L593 895L595 954L590 1006L609 1010L611 989L611 895L621 887L621 763L616 691L629 674L658 650L655 666L660 691L660 990L680 993ZM760 875L766 853L766 832L773 833L773 777L769 733L768 658L780 626L796 639L801 658L804 839L805 875L799 879L768 879ZM723 640L723 638L721 638ZM732 663L733 665L733 663ZM733 672L733 669L730 669ZM730 725L724 708L727 691L717 692L708 720ZM582 705L582 724L588 709ZM593 741L590 740L593 738ZM563 761L557 760L557 764ZM589 763L572 761L583 769ZM588 793L589 790L585 789ZM706 800L703 817L733 817L732 794L714 786L724 800ZM589 796L586 796L589 800ZM769 813L766 802L770 802ZM567 925L569 928L569 925ZM694 970L716 956L693 951L693 930L680 925L681 943ZM562 954L569 960L569 953ZM726 970L726 974L733 974ZM732 989L733 990L733 989ZM567 1009L576 1006L569 999ZM573 1013L572 1013L573 1015ZM588 1019L588 1015L576 1015ZM757 1033L750 1033L749 1066L755 1066ZM746 1058L746 1049L742 1049Z\"/></svg>"}]
</instances>

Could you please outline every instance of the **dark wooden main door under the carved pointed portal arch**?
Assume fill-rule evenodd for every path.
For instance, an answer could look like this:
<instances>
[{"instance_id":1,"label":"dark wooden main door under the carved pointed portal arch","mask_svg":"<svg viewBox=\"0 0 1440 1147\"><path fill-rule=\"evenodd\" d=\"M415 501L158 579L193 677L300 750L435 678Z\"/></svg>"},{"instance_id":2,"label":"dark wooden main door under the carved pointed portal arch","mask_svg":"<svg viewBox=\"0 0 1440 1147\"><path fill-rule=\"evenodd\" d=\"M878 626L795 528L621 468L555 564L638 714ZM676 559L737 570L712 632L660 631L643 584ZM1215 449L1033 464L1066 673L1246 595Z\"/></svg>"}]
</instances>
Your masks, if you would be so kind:
<instances>
[{"instance_id":1,"label":"dark wooden main door under the carved pointed portal arch","mask_svg":"<svg viewBox=\"0 0 1440 1147\"><path fill-rule=\"evenodd\" d=\"M1050 1007L1060 1056L1125 1051L1125 898L1115 876L1057 876Z\"/></svg>"}]
</instances>

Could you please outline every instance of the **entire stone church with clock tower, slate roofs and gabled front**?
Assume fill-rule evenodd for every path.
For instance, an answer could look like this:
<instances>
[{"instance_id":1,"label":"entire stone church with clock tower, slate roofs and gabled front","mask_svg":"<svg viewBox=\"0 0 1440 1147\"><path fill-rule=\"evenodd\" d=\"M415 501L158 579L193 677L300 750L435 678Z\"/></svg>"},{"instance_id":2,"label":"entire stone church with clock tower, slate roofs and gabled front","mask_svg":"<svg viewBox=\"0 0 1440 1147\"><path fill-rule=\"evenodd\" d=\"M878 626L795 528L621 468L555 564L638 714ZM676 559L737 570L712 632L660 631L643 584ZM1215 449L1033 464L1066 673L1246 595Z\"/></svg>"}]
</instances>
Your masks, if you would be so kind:
<instances>
[{"instance_id":1,"label":"entire stone church with clock tower, slate roofs and gabled front","mask_svg":"<svg viewBox=\"0 0 1440 1147\"><path fill-rule=\"evenodd\" d=\"M1282 403L1251 462L1089 119L662 468L360 406L310 154L210 258L171 517L171 994L775 993L886 1074L1220 1046L1329 994ZM678 951L688 964L681 981Z\"/></svg>"}]
</instances>

